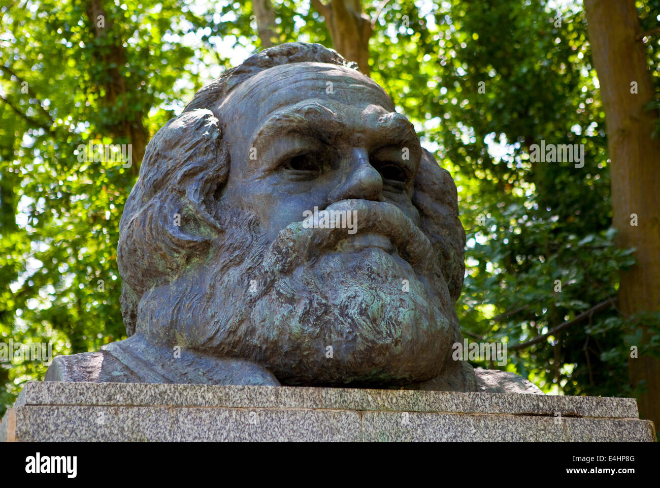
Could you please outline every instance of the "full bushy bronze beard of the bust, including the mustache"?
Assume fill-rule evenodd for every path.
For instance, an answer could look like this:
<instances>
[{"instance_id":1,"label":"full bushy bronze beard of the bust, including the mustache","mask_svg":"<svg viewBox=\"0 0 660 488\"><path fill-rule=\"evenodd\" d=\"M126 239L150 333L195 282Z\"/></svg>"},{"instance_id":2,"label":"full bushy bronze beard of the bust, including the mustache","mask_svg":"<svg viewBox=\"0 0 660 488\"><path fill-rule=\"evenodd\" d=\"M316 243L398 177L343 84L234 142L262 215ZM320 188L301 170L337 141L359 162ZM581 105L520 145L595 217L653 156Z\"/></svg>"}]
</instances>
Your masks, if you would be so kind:
<instances>
[{"instance_id":1,"label":"full bushy bronze beard of the bust, including the mustache","mask_svg":"<svg viewBox=\"0 0 660 488\"><path fill-rule=\"evenodd\" d=\"M343 200L331 208L357 210L358 232L297 222L269 243L255 233L254 216L225 212L213 257L147 292L137 331L261 364L285 385L435 378L458 325L428 238L391 204ZM364 233L389 237L398 253L340 250Z\"/></svg>"}]
</instances>

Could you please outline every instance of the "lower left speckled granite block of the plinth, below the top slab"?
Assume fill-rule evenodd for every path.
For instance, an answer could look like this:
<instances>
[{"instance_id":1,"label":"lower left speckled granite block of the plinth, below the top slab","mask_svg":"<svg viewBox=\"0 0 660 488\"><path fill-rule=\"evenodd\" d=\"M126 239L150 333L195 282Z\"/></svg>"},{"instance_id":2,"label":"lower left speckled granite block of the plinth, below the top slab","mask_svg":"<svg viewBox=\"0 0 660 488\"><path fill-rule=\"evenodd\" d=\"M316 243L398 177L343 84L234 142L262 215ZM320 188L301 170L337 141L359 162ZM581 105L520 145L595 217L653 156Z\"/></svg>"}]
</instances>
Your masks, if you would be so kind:
<instances>
[{"instance_id":1,"label":"lower left speckled granite block of the plinth, below the top slab","mask_svg":"<svg viewBox=\"0 0 660 488\"><path fill-rule=\"evenodd\" d=\"M28 442L356 442L350 410L167 407L20 407L16 440Z\"/></svg>"}]
</instances>

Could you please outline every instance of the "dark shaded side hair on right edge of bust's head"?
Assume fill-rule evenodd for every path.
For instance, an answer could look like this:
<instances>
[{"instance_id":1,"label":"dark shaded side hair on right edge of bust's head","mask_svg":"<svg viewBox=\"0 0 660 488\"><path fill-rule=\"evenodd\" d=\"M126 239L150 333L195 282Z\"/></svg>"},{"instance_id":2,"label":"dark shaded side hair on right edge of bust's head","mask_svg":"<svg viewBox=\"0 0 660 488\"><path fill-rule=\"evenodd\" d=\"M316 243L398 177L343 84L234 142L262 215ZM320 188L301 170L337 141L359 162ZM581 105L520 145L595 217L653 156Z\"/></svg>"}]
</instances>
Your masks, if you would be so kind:
<instances>
[{"instance_id":1,"label":"dark shaded side hair on right edge of bust's head","mask_svg":"<svg viewBox=\"0 0 660 488\"><path fill-rule=\"evenodd\" d=\"M422 231L438 253L449 294L458 300L465 274L465 230L458 216L456 185L449 171L423 147L413 204L419 211Z\"/></svg>"}]
</instances>

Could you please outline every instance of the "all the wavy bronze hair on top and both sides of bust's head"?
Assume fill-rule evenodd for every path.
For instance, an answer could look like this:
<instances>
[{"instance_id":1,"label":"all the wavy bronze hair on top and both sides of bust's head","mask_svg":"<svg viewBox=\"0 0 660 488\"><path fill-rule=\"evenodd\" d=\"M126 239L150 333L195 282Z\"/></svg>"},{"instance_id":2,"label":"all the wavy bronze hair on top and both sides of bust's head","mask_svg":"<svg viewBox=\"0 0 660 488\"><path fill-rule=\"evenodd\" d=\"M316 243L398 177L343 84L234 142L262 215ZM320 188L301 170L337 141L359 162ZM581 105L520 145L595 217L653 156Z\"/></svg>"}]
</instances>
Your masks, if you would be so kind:
<instances>
[{"instance_id":1,"label":"all the wavy bronze hair on top and both sides of bust's head","mask_svg":"<svg viewBox=\"0 0 660 488\"><path fill-rule=\"evenodd\" d=\"M230 157L218 107L249 77L277 65L302 62L358 70L356 63L320 44L291 42L268 48L197 91L183 113L158 130L147 145L119 222L117 265L128 335L135 333L143 294L178 278L222 239L224 226L216 203L227 181ZM414 181L413 204L455 301L463 286L465 231L458 218L456 186L425 150Z\"/></svg>"}]
</instances>

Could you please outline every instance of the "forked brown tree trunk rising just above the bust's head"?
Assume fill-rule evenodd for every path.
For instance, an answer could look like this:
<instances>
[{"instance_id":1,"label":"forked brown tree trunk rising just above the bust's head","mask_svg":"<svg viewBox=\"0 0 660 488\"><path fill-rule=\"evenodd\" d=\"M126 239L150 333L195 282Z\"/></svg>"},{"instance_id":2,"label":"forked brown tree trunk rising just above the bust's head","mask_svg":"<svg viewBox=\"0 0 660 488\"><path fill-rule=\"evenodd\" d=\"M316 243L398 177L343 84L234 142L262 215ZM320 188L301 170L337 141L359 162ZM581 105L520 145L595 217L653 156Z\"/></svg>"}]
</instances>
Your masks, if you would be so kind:
<instances>
[{"instance_id":1,"label":"forked brown tree trunk rising just above the bust's head","mask_svg":"<svg viewBox=\"0 0 660 488\"><path fill-rule=\"evenodd\" d=\"M325 17L335 51L358 63L368 76L372 25L369 16L362 13L360 0L332 0L328 5L312 0L312 5Z\"/></svg>"}]
</instances>

